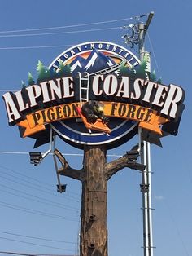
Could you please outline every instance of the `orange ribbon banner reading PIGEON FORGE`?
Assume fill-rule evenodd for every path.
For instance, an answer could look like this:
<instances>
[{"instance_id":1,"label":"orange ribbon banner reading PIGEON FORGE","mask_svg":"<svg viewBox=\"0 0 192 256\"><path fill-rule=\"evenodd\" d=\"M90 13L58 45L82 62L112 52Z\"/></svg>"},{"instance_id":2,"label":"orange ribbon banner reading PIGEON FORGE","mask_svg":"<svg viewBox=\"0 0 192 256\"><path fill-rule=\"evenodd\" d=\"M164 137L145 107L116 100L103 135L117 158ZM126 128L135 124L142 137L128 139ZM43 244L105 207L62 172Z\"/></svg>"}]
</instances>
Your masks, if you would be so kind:
<instances>
[{"instance_id":1,"label":"orange ribbon banner reading PIGEON FORGE","mask_svg":"<svg viewBox=\"0 0 192 256\"><path fill-rule=\"evenodd\" d=\"M103 102L103 104L105 116L139 121L139 127L146 130L153 130L158 134L162 134L159 125L169 121L164 117L160 117L157 111L151 108L118 102ZM41 130L45 130L45 125L48 123L80 117L77 111L78 107L80 107L80 103L63 104L41 109L28 114L26 119L20 121L17 125L25 128L23 137L33 135Z\"/></svg>"}]
</instances>

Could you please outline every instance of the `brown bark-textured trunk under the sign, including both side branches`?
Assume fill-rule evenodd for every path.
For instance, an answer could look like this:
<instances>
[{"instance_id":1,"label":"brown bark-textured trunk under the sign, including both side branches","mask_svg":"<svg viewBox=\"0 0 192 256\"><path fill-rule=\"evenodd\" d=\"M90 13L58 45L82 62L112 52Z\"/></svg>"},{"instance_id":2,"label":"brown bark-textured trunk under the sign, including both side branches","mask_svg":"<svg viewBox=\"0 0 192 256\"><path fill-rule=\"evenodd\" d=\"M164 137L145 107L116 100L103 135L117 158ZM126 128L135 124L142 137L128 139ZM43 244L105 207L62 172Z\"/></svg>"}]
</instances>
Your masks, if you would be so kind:
<instances>
[{"instance_id":1,"label":"brown bark-textured trunk under the sign, including both side branches","mask_svg":"<svg viewBox=\"0 0 192 256\"><path fill-rule=\"evenodd\" d=\"M55 149L55 156L62 164L58 173L82 183L80 256L108 255L107 180L124 167L145 169L145 166L137 163L137 156L133 156L133 151L131 152L107 163L105 146L85 146L83 168L76 170L72 169L63 155Z\"/></svg>"}]
</instances>

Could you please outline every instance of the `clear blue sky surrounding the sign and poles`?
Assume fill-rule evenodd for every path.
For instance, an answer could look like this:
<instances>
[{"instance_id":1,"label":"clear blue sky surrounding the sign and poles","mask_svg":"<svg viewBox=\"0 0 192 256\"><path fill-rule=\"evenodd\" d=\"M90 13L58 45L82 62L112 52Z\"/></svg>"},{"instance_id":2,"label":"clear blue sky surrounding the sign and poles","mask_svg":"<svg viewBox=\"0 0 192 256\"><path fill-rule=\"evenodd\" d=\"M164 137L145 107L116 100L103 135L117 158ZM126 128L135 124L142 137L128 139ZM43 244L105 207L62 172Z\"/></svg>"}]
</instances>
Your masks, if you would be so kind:
<instances>
[{"instance_id":1,"label":"clear blue sky surrounding the sign and poles","mask_svg":"<svg viewBox=\"0 0 192 256\"><path fill-rule=\"evenodd\" d=\"M154 254L192 254L191 8L190 0L0 0L0 251L77 254L81 207L81 184L77 181L62 179L68 184L67 192L56 192L51 156L34 167L27 154L5 153L30 152L34 141L21 139L17 127L8 126L2 90L20 90L28 71L35 76L38 60L48 66L68 46L94 40L122 41L124 30L110 28L132 24L130 17L155 11L148 31L151 43L146 37L152 69L164 84L174 83L185 90L186 107L177 137L162 139L163 148L151 147ZM95 24L79 26L89 23ZM69 27L40 30L63 26ZM37 30L19 31L24 29ZM29 33L31 36L23 36ZM108 153L122 155L134 143L137 137ZM82 153L59 140L57 147L67 154ZM67 159L72 167L81 168L81 156ZM108 157L108 161L112 159ZM141 174L129 169L121 170L108 183L110 256L143 254L140 183Z\"/></svg>"}]
</instances>

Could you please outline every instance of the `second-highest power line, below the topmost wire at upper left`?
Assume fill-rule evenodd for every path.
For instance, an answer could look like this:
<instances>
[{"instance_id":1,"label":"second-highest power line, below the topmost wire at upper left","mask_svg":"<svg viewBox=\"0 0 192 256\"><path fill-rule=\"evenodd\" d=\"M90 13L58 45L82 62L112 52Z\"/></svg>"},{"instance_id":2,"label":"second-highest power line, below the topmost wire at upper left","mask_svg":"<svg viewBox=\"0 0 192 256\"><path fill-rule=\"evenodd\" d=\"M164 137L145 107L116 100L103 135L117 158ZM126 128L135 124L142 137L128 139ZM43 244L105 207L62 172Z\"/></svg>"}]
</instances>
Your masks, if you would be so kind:
<instances>
[{"instance_id":1,"label":"second-highest power line, below the topmost wire at upper left","mask_svg":"<svg viewBox=\"0 0 192 256\"><path fill-rule=\"evenodd\" d=\"M68 33L86 33L86 32L96 32L96 31L106 31L122 29L122 27L111 27L111 28L100 28L100 29L84 29L75 31L63 31L63 32L52 32L52 33L27 33L27 34L11 34L11 35L0 35L0 38L20 38L20 37L37 37L37 36L50 36L56 34L68 34Z\"/></svg>"}]
</instances>

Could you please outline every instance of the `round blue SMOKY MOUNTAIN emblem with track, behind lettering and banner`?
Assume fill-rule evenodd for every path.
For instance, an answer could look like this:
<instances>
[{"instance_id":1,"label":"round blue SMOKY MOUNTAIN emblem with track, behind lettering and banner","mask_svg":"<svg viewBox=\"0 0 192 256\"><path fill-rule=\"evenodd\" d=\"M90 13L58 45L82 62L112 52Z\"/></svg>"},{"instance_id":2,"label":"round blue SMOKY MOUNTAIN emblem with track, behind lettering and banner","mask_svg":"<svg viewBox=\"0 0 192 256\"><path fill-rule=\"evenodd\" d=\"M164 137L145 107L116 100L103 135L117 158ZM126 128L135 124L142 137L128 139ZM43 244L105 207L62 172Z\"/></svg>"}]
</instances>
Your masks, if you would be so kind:
<instances>
[{"instance_id":1,"label":"round blue SMOKY MOUNTAIN emblem with track, behind lettering and banner","mask_svg":"<svg viewBox=\"0 0 192 256\"><path fill-rule=\"evenodd\" d=\"M89 100L103 100L103 95L95 98L91 95L93 88L89 88L90 80L96 75L115 74L118 76L120 67L137 67L140 61L132 52L122 46L111 42L87 42L64 51L52 64L51 71L59 71L59 64L63 63L71 68L73 77L80 79L79 97L80 102ZM82 85L83 84L83 85ZM78 94L77 93L77 94ZM81 120L56 121L51 123L56 133L66 141L76 144L81 148L83 144L98 145L107 144L107 148L114 148L117 144L131 139L137 133L137 121L110 118L110 134L105 131L90 130L85 127Z\"/></svg>"}]
</instances>

